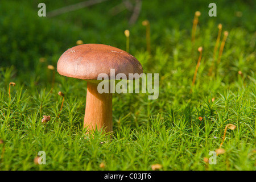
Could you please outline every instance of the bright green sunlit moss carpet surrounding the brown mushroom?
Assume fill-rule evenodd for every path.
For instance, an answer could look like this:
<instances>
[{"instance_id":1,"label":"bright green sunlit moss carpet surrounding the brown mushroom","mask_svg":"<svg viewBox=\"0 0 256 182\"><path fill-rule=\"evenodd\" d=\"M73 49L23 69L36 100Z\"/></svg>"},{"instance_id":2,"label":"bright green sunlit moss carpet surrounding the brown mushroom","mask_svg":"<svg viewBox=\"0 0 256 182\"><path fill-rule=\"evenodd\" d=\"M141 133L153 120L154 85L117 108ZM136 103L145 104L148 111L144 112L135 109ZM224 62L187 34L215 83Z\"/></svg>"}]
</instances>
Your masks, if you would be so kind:
<instances>
[{"instance_id":1,"label":"bright green sunlit moss carpet surrounding the brown mushroom","mask_svg":"<svg viewBox=\"0 0 256 182\"><path fill-rule=\"evenodd\" d=\"M143 7L153 5L154 3L148 3ZM189 11L198 10L195 6L192 7ZM249 9L247 6L241 7ZM99 10L102 8L98 7ZM232 7L230 11L232 10L237 9ZM34 9L28 8L28 11L32 14ZM185 11L186 14L189 11ZM142 18L145 18L143 12ZM163 15L164 12L167 11L163 11ZM60 22L61 19L67 18L67 15L62 16ZM148 16L150 19L150 15ZM47 69L47 65L52 64L56 67L61 53L72 45L75 46L76 40L79 39L77 35L85 27L71 27L70 22L61 22L61 26L67 29L56 36L56 42L54 37L44 39L44 36L53 32L51 28L46 28L42 31L44 36L35 36L36 40L25 38L32 51L19 49L19 53L5 57L3 55L7 55L6 52L15 48L15 41L8 44L10 47L1 48L0 139L4 143L0 144L0 169L151 170L151 165L158 163L163 166L161 170L255 170L256 38L251 31L255 30L255 27L248 22L241 25L233 15L233 18L230 16L227 16L228 20L218 22L206 19L207 16L202 15L201 19L199 18L200 24L197 27L193 48L193 13L191 19L184 22L190 25L189 28L185 25L167 27L161 20L159 31L163 34L151 26L152 30L155 30L151 32L151 55L145 51L144 27L141 22L137 22L134 30L138 32L131 31L130 53L141 62L145 73L159 73L159 97L157 100L148 100L148 93L113 94L112 138L100 131L94 133L94 138L89 138L82 130L86 81L60 76L56 72L55 85L51 92L52 71ZM183 18L179 19L183 21ZM232 22L230 19L233 19L234 24L225 24ZM43 28L44 24L49 22L54 26L55 21L42 20L39 26ZM154 18L152 21L154 22ZM107 22L98 26L108 27ZM218 23L222 23L223 30L229 31L229 36L221 63L217 65L216 76L209 76ZM97 27L94 24L91 26ZM54 28L56 27L52 27ZM126 28L122 28L115 30L119 33L113 44L125 49L123 30ZM31 30L30 32L34 33L30 36L36 35L36 31ZM15 38L16 32L14 30ZM62 42L62 36L69 35L70 32L74 34ZM114 39L114 33L110 32L109 37L104 39L94 36L90 41L108 44L109 40ZM26 34L26 31L22 34ZM101 36L105 37L105 34L106 32ZM90 35L93 35L93 32ZM11 35L8 36L10 40L15 40ZM17 38L22 39L21 36ZM89 39L89 35L84 38ZM22 47L20 41L16 41L18 47ZM36 46L30 45L34 41L39 43L35 43ZM203 47L203 57L195 85L191 87L199 56L197 48L200 46ZM20 65L19 57L26 65ZM46 62L40 63L40 57L47 57ZM10 64L6 63L8 60ZM239 75L238 71L243 75ZM11 81L16 85L11 86L9 99ZM62 97L58 95L59 91L65 94L61 113ZM60 117L57 118L59 113ZM51 121L45 125L41 122L43 115L51 116ZM203 121L200 121L199 117L203 117ZM216 165L206 164L204 158L210 157L209 151L220 147L228 123L236 125L236 129L228 130L226 133L222 146L225 154L217 156ZM46 165L34 164L34 158L39 151L46 152ZM104 169L100 168L102 162L105 163Z\"/></svg>"}]
</instances>

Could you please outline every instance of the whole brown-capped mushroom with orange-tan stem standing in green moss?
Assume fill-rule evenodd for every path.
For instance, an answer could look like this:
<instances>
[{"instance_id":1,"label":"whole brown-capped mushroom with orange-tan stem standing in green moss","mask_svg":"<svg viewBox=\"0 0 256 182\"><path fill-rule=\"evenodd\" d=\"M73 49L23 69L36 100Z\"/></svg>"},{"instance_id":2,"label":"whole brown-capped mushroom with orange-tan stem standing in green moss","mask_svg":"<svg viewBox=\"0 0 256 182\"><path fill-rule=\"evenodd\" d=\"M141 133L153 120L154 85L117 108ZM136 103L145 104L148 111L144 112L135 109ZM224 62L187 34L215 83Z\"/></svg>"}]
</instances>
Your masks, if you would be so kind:
<instances>
[{"instance_id":1,"label":"whole brown-capped mushroom with orange-tan stem standing in green moss","mask_svg":"<svg viewBox=\"0 0 256 182\"><path fill-rule=\"evenodd\" d=\"M115 75L110 74L110 69L115 69ZM123 73L129 78L129 73L141 75L143 68L134 56L121 49L104 44L81 44L61 55L57 72L87 81L84 129L104 129L109 133L113 131L112 93L98 93L97 87L101 82L97 80L98 75L105 73L110 79Z\"/></svg>"}]
</instances>

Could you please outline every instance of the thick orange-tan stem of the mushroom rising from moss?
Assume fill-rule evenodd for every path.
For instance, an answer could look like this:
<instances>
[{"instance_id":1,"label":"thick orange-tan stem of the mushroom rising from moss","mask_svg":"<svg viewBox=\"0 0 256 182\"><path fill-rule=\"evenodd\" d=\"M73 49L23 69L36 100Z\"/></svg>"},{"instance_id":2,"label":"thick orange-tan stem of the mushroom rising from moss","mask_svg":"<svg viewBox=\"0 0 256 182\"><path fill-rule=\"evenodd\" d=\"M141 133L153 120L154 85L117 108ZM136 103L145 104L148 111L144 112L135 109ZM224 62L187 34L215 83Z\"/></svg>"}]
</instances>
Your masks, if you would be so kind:
<instances>
[{"instance_id":1,"label":"thick orange-tan stem of the mushroom rising from moss","mask_svg":"<svg viewBox=\"0 0 256 182\"><path fill-rule=\"evenodd\" d=\"M87 82L84 129L113 131L112 123L112 93L98 93L98 84Z\"/></svg>"}]
</instances>

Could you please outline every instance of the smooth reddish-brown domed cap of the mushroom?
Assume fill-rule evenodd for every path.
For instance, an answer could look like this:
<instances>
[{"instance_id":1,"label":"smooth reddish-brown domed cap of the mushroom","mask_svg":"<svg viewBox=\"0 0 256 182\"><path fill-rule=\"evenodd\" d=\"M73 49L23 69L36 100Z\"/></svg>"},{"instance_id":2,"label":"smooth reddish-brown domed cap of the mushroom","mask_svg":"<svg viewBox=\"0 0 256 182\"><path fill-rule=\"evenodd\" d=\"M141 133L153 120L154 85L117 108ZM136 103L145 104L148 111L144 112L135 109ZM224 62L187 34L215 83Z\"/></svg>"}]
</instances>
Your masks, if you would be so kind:
<instances>
[{"instance_id":1,"label":"smooth reddish-brown domed cap of the mushroom","mask_svg":"<svg viewBox=\"0 0 256 182\"><path fill-rule=\"evenodd\" d=\"M100 73L105 73L110 79L110 69L115 69L115 76L124 73L127 80L129 73L143 73L141 63L130 53L104 44L82 44L69 48L57 63L60 75L82 80L97 80Z\"/></svg>"}]
</instances>

